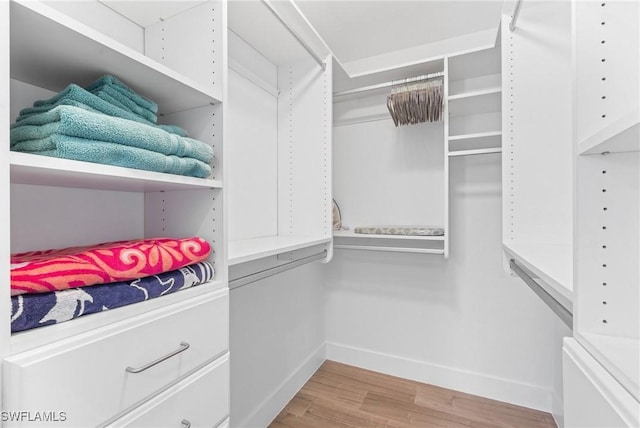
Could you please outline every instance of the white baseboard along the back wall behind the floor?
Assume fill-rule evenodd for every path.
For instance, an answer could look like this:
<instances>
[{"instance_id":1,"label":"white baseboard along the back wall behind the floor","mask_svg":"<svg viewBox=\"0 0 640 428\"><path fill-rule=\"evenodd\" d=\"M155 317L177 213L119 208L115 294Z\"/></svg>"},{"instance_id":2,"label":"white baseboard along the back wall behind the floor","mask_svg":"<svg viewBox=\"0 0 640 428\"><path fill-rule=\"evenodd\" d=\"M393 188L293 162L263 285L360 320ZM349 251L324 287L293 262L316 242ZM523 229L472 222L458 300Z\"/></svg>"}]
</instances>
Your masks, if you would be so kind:
<instances>
[{"instance_id":1,"label":"white baseboard along the back wall behind the floor","mask_svg":"<svg viewBox=\"0 0 640 428\"><path fill-rule=\"evenodd\" d=\"M328 360L531 409L552 411L551 391L537 385L337 343L327 343L326 347Z\"/></svg>"}]
</instances>

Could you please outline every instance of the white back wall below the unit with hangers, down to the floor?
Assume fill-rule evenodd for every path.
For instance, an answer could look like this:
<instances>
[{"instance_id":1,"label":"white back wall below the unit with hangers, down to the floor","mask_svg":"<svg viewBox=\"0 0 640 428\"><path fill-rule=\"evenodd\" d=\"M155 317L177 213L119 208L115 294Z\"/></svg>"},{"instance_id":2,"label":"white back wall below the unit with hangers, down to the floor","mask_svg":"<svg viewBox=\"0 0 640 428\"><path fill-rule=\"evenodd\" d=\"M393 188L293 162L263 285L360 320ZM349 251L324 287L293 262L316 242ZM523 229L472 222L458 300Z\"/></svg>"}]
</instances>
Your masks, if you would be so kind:
<instances>
[{"instance_id":1,"label":"white back wall below the unit with hangers, down to the floor","mask_svg":"<svg viewBox=\"0 0 640 428\"><path fill-rule=\"evenodd\" d=\"M450 174L448 260L336 250L327 357L550 411L554 315L503 271L500 157L457 158Z\"/></svg>"}]
</instances>

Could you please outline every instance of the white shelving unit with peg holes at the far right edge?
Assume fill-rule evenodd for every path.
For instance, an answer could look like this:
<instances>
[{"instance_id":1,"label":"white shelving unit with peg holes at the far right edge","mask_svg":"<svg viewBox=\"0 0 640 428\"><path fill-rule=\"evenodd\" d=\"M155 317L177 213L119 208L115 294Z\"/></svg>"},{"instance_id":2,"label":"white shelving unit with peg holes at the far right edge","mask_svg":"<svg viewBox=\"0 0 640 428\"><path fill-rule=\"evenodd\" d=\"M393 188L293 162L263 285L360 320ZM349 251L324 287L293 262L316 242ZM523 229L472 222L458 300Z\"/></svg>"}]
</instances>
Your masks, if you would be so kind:
<instances>
[{"instance_id":1,"label":"white shelving unit with peg holes at the far right edge","mask_svg":"<svg viewBox=\"0 0 640 428\"><path fill-rule=\"evenodd\" d=\"M565 381L565 395L575 403L567 409L567 421L579 423L585 417L580 413L585 406L599 409L608 403L613 411L604 423L623 420L628 426L638 426L640 6L636 2L576 1L573 13L574 347L589 354L574 360L585 365L582 361L591 358L599 371L581 368ZM565 344L565 352L571 350ZM595 401L582 400L585 381L598 386ZM599 387L605 383L609 388ZM598 417L591 412L589 416Z\"/></svg>"}]
</instances>

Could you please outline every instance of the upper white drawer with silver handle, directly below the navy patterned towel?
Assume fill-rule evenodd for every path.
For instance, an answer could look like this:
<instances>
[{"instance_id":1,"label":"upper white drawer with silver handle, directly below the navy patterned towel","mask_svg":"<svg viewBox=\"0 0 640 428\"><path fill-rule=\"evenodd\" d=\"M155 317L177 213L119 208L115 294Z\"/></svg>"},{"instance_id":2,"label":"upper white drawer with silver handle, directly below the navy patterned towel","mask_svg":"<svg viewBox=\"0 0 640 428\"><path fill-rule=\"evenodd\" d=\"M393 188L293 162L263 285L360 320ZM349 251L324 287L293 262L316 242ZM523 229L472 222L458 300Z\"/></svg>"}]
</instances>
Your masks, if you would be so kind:
<instances>
[{"instance_id":1,"label":"upper white drawer with silver handle, directly below the navy patterned towel","mask_svg":"<svg viewBox=\"0 0 640 428\"><path fill-rule=\"evenodd\" d=\"M182 349L181 343L188 349L142 372L127 371ZM58 426L95 426L228 347L229 292L224 289L7 358L3 410L64 412L66 424Z\"/></svg>"}]
</instances>

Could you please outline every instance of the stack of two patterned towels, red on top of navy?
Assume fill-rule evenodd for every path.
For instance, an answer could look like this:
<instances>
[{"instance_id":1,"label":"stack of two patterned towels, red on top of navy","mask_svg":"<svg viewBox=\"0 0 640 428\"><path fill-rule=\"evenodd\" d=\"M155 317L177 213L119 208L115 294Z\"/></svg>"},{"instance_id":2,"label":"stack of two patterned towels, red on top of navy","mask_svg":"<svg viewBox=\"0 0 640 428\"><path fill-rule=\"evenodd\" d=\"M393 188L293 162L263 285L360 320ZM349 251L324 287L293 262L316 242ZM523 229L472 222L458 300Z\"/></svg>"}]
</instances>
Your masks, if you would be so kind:
<instances>
[{"instance_id":1,"label":"stack of two patterned towels, red on top of navy","mask_svg":"<svg viewBox=\"0 0 640 428\"><path fill-rule=\"evenodd\" d=\"M213 279L199 237L107 242L11 256L11 331L161 297Z\"/></svg>"}]
</instances>

